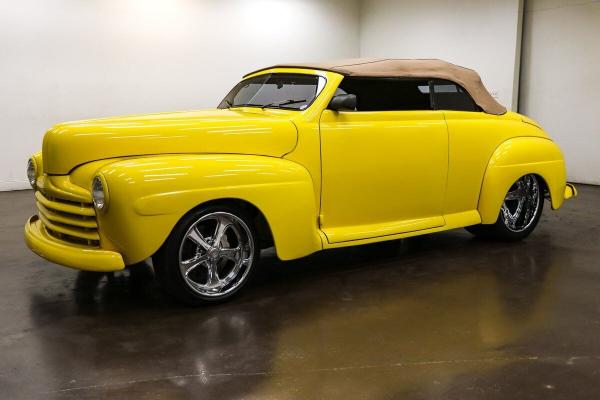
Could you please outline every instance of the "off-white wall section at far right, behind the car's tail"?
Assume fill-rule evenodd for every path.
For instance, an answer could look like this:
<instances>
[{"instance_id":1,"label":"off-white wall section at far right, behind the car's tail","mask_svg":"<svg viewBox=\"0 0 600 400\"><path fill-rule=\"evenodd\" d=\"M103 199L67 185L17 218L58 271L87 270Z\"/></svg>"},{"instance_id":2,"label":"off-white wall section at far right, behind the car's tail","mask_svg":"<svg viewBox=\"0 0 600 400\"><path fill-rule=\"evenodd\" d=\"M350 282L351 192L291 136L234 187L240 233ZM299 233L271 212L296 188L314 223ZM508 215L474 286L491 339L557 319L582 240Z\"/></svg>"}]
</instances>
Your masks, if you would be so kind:
<instances>
[{"instance_id":1,"label":"off-white wall section at far right, behind the car's tail","mask_svg":"<svg viewBox=\"0 0 600 400\"><path fill-rule=\"evenodd\" d=\"M600 1L528 0L521 111L559 143L569 179L600 184Z\"/></svg>"}]
</instances>

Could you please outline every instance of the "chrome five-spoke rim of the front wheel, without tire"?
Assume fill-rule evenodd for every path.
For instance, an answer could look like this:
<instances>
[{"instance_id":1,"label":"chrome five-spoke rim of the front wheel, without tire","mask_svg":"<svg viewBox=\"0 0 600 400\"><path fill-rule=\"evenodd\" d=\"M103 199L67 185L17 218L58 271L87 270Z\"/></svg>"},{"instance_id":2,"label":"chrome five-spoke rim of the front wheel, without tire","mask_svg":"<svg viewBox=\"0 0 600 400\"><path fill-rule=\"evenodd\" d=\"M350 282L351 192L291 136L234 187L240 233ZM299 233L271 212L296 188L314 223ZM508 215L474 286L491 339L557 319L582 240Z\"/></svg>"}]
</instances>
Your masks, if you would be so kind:
<instances>
[{"instance_id":1,"label":"chrome five-spoke rim of the front wheel, without tire","mask_svg":"<svg viewBox=\"0 0 600 400\"><path fill-rule=\"evenodd\" d=\"M213 212L190 226L179 248L185 283L202 296L219 297L240 286L254 260L254 241L246 223L227 212Z\"/></svg>"}]
</instances>

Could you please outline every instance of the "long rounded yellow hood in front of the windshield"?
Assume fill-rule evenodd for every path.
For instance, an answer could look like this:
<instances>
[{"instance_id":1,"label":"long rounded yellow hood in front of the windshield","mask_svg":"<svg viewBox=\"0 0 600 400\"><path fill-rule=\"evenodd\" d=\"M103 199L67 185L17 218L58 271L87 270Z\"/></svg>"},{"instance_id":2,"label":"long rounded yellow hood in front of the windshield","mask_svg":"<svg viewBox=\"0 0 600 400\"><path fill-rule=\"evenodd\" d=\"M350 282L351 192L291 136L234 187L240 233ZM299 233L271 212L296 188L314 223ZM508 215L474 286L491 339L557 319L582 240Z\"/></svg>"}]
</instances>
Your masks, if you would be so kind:
<instances>
[{"instance_id":1,"label":"long rounded yellow hood in front of the windshield","mask_svg":"<svg viewBox=\"0 0 600 400\"><path fill-rule=\"evenodd\" d=\"M58 124L44 136L44 172L149 154L234 153L281 157L297 141L285 114L260 109L132 115Z\"/></svg>"}]
</instances>

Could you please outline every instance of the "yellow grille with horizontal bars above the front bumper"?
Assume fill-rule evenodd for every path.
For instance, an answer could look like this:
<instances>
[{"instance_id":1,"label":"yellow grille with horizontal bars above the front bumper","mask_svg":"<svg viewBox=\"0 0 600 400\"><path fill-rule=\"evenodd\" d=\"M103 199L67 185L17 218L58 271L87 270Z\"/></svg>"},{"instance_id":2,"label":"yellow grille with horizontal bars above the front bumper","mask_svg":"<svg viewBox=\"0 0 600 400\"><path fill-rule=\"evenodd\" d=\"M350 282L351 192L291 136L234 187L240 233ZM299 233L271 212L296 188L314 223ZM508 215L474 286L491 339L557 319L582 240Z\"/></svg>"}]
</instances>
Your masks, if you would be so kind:
<instances>
[{"instance_id":1,"label":"yellow grille with horizontal bars above the front bumper","mask_svg":"<svg viewBox=\"0 0 600 400\"><path fill-rule=\"evenodd\" d=\"M59 240L100 247L96 210L92 203L77 203L35 192L40 220L48 233Z\"/></svg>"}]
</instances>

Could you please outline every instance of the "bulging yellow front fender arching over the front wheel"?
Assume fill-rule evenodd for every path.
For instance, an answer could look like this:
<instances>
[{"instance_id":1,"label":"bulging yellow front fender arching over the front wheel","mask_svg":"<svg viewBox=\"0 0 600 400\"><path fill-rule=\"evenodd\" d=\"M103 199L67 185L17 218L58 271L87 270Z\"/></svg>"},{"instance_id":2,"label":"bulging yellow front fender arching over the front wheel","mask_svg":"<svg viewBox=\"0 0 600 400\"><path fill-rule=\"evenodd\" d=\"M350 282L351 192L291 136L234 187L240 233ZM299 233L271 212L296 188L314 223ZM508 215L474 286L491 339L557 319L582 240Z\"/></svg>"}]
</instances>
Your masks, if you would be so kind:
<instances>
[{"instance_id":1,"label":"bulging yellow front fender arching over the front wheel","mask_svg":"<svg viewBox=\"0 0 600 400\"><path fill-rule=\"evenodd\" d=\"M235 154L167 155L124 159L99 172L110 199L98 213L101 241L123 254L126 264L153 255L187 212L221 199L256 207L283 260L322 248L311 177L292 161Z\"/></svg>"}]
</instances>

